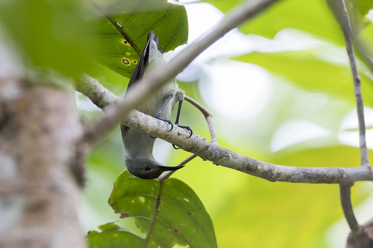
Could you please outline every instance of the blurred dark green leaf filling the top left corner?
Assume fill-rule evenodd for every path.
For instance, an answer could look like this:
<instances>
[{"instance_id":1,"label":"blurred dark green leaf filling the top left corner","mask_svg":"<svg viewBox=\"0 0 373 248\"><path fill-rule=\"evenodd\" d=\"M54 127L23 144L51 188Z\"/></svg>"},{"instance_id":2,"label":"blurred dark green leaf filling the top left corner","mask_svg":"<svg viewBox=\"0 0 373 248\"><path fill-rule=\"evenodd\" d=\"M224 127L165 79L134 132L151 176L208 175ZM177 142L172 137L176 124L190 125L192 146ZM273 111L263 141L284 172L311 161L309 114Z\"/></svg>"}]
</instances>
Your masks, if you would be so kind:
<instances>
[{"instance_id":1,"label":"blurred dark green leaf filling the top left corner","mask_svg":"<svg viewBox=\"0 0 373 248\"><path fill-rule=\"evenodd\" d=\"M1 1L1 29L29 64L78 78L94 67L85 50L81 3L82 0Z\"/></svg>"}]
</instances>

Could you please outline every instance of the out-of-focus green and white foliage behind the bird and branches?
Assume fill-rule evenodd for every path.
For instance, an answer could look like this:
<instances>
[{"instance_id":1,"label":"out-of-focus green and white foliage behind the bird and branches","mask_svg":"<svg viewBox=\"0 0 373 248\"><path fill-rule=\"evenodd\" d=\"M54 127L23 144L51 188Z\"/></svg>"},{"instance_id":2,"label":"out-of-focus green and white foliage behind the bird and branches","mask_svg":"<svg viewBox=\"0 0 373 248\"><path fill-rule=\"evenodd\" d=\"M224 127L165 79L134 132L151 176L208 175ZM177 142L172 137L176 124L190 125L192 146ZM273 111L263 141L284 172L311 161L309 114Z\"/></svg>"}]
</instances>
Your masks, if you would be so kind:
<instances>
[{"instance_id":1,"label":"out-of-focus green and white foliage behind the bird and branches","mask_svg":"<svg viewBox=\"0 0 373 248\"><path fill-rule=\"evenodd\" d=\"M185 4L191 43L240 1L177 3ZM372 52L372 2L351 3L360 38ZM89 7L85 1L75 0L3 0L2 37L11 41L29 67L52 68L75 79L85 71L123 96L128 79L91 60L84 38ZM372 68L360 57L358 67L372 159ZM178 81L188 96L213 113L221 146L282 165L359 165L351 71L342 32L323 0L279 1L207 49ZM85 119L102 115L79 93L77 106ZM183 104L180 123L209 139L203 115L191 104ZM107 199L116 175L125 168L122 146L118 126L87 158L81 210L84 231L119 218ZM156 141L154 156L165 165L176 165L188 155ZM221 248L345 245L348 227L337 185L272 183L200 158L173 176L200 197ZM372 187L372 183L359 182L352 188L360 223L373 217ZM127 218L120 225L135 224Z\"/></svg>"}]
</instances>

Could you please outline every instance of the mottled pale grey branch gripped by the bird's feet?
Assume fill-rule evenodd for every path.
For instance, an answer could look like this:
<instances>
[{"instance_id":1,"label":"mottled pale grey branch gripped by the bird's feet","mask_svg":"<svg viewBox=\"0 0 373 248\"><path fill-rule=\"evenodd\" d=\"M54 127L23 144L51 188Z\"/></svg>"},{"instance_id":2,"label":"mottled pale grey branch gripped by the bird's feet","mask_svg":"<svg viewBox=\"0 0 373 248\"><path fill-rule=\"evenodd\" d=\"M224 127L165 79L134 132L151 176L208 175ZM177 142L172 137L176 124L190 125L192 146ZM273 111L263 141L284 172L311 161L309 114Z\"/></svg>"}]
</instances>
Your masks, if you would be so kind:
<instances>
[{"instance_id":1,"label":"mottled pale grey branch gripped by the bird's feet","mask_svg":"<svg viewBox=\"0 0 373 248\"><path fill-rule=\"evenodd\" d=\"M101 86L100 92L105 91L103 88ZM83 93L88 97L95 95L93 92ZM103 97L103 99L110 98ZM112 104L112 102L107 102L107 104ZM206 139L197 134L193 134L191 138L188 138L188 132L178 126L175 126L169 132L168 125L162 120L155 119L137 110L132 110L127 118L122 118L121 122L131 129L157 136L171 144L175 144L179 148L201 157L203 160L210 160L214 164L242 171L269 181L339 184L353 184L355 181L364 180L373 181L372 167L293 167L255 160L223 148L213 142L206 141ZM186 160L183 162L188 162Z\"/></svg>"}]
</instances>

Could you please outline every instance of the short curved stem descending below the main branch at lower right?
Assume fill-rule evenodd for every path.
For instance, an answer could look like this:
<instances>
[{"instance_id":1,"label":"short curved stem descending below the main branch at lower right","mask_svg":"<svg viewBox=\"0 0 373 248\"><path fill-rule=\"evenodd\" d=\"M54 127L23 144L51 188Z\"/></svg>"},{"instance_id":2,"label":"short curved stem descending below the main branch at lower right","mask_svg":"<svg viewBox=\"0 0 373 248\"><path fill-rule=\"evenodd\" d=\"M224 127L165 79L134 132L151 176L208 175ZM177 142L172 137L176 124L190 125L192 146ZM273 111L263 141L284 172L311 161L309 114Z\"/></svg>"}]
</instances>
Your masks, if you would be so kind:
<instances>
[{"instance_id":1,"label":"short curved stem descending below the main branch at lower right","mask_svg":"<svg viewBox=\"0 0 373 248\"><path fill-rule=\"evenodd\" d=\"M351 204L351 185L339 185L339 194L343 213L351 228L351 234L359 248L372 248L372 242L364 233L363 227L357 223Z\"/></svg>"}]
</instances>

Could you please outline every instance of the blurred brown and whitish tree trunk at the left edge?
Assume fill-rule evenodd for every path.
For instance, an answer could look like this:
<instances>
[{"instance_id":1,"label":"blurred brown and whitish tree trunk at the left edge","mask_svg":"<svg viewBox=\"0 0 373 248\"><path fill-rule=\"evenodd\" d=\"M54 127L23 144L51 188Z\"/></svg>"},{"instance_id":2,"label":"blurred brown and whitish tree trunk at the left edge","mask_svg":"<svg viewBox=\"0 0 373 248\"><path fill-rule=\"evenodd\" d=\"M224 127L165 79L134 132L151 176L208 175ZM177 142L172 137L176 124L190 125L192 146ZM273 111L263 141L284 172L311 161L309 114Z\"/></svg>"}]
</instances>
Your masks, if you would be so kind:
<instances>
[{"instance_id":1,"label":"blurred brown and whitish tree trunk at the left edge","mask_svg":"<svg viewBox=\"0 0 373 248\"><path fill-rule=\"evenodd\" d=\"M1 38L0 247L85 247L72 87L48 73L26 75Z\"/></svg>"}]
</instances>

